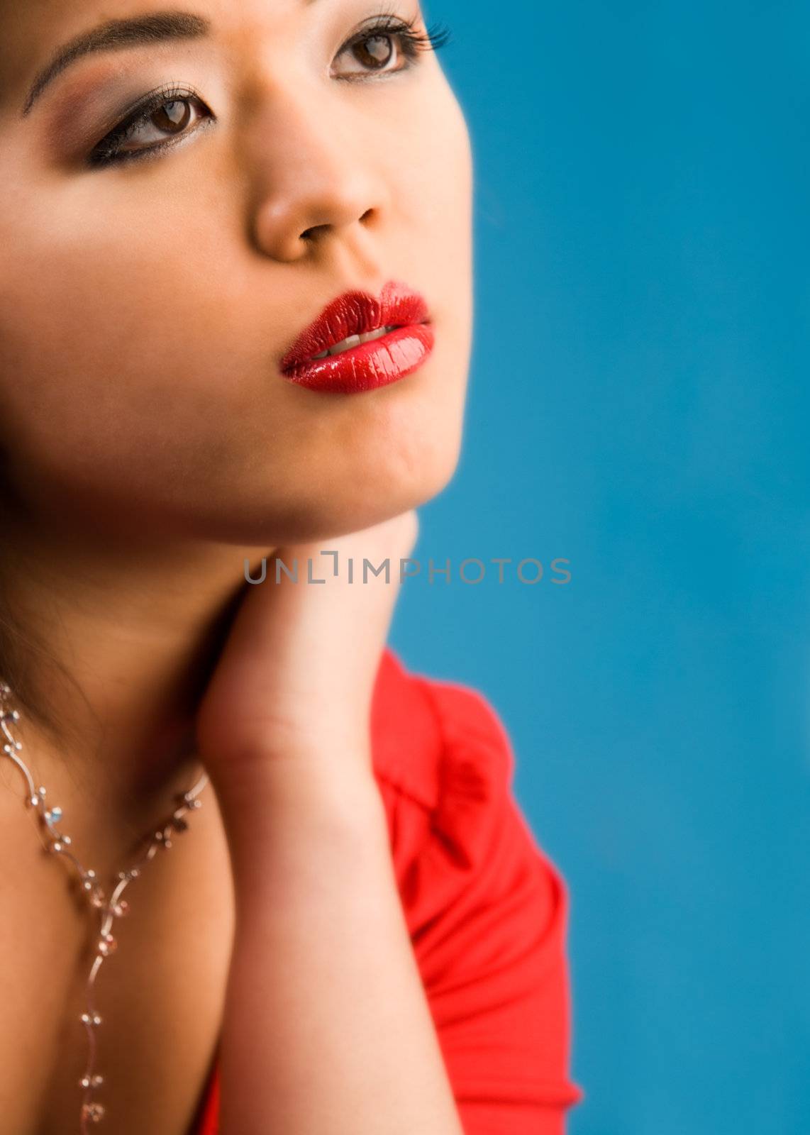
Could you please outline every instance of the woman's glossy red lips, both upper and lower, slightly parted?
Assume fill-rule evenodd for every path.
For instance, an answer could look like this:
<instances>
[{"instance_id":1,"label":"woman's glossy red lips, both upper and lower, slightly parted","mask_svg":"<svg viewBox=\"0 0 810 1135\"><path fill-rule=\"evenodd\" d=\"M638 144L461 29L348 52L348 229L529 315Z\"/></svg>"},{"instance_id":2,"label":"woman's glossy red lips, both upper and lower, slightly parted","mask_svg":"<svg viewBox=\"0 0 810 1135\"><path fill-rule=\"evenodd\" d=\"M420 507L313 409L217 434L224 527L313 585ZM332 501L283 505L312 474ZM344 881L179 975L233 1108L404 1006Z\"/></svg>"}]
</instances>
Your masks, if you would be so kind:
<instances>
[{"instance_id":1,"label":"woman's glossy red lips, both upper and lower, slightly parted","mask_svg":"<svg viewBox=\"0 0 810 1135\"><path fill-rule=\"evenodd\" d=\"M379 339L361 343L324 359L313 359L349 335L394 326ZM369 292L344 292L327 304L281 359L285 378L312 390L358 394L387 386L416 370L433 350L434 334L424 299L398 280L389 280L380 299Z\"/></svg>"}]
</instances>

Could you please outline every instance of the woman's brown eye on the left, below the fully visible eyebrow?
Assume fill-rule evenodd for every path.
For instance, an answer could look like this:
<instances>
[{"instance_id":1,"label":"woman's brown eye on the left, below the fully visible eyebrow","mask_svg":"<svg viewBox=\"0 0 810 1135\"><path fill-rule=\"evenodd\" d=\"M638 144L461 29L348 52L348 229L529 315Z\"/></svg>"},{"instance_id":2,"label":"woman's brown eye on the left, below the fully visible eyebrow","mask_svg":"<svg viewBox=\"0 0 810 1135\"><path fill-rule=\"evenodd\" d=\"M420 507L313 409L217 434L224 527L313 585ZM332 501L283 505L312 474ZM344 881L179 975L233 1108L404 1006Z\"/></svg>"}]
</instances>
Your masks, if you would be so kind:
<instances>
[{"instance_id":1,"label":"woman's brown eye on the left, below the fully visible eyebrow","mask_svg":"<svg viewBox=\"0 0 810 1135\"><path fill-rule=\"evenodd\" d=\"M162 89L147 95L91 151L91 166L147 157L194 133L211 111L193 92Z\"/></svg>"}]
</instances>

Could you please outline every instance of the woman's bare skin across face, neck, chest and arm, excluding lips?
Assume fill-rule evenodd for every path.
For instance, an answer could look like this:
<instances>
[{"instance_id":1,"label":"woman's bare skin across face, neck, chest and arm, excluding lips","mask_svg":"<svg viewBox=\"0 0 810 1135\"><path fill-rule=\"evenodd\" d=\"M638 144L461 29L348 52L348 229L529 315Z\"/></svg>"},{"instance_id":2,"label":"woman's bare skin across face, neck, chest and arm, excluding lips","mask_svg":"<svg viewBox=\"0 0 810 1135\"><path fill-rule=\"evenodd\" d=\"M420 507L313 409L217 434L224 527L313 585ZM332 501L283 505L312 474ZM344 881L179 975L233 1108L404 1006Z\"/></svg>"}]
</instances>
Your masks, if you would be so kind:
<instances>
[{"instance_id":1,"label":"woman's bare skin across face, neck, chest and arm, excluding lips","mask_svg":"<svg viewBox=\"0 0 810 1135\"><path fill-rule=\"evenodd\" d=\"M0 647L25 678L18 735L102 878L201 760L211 775L102 970L102 1099L118 1135L185 1135L221 1036L223 1135L458 1135L371 768L397 588L250 587L244 563L396 563L453 476L466 126L431 52L340 77L363 69L344 45L383 10L371 0L175 5L209 34L86 56L23 115L59 47L163 7L0 0ZM386 10L421 24L411 0ZM167 83L210 121L90 168L116 115ZM419 371L348 397L281 378L328 301L390 278L431 310ZM61 1135L86 915L37 854L22 785L6 763L0 1108L18 1135Z\"/></svg>"}]
</instances>

